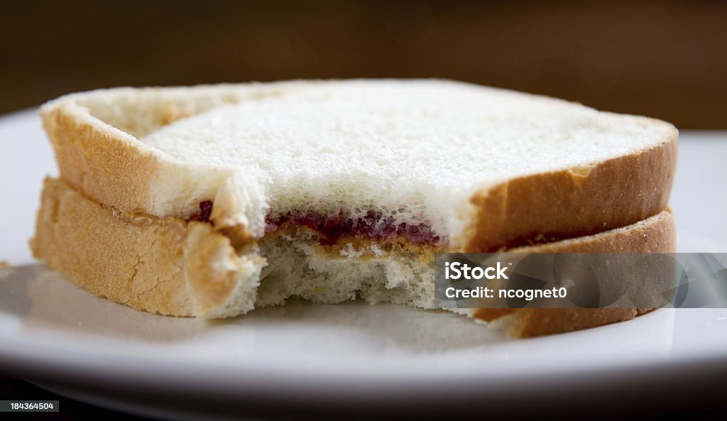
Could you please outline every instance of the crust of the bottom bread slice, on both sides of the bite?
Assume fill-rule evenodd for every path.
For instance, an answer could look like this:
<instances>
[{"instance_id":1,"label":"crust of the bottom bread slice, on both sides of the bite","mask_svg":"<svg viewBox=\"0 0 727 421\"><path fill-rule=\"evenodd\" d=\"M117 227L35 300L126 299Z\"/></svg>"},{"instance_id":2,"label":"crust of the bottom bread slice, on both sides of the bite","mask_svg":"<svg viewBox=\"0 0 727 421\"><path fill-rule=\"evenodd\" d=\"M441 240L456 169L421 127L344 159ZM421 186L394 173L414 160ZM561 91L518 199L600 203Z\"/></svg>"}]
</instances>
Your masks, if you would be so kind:
<instances>
[{"instance_id":1,"label":"crust of the bottom bread slice, on both sides of the bite","mask_svg":"<svg viewBox=\"0 0 727 421\"><path fill-rule=\"evenodd\" d=\"M667 210L594 236L513 251L670 252L674 248L674 220ZM234 288L231 274L211 265L219 263L220 254L233 258L229 238L198 222L118 212L87 199L62 180L45 181L31 249L36 258L89 292L152 313L211 314ZM492 316L485 310L475 312L475 318L483 321L499 318ZM515 337L527 337L634 316L635 310L532 310L508 316L507 329Z\"/></svg>"}]
</instances>

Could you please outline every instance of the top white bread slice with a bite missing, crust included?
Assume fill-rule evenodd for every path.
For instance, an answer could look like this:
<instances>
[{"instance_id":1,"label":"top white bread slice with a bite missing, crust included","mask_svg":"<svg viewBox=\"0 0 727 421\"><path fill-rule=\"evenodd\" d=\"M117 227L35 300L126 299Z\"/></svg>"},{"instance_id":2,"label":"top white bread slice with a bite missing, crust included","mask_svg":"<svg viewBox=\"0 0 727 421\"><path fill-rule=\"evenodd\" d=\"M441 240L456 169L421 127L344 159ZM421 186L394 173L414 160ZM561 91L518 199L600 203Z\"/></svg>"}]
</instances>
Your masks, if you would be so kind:
<instances>
[{"instance_id":1,"label":"top white bread slice with a bite missing, crust included","mask_svg":"<svg viewBox=\"0 0 727 421\"><path fill-rule=\"evenodd\" d=\"M467 252L660 212L678 137L663 121L440 80L110 89L41 116L63 180L125 212L188 219L212 201L215 227L245 244L286 212L374 210Z\"/></svg>"}]
</instances>

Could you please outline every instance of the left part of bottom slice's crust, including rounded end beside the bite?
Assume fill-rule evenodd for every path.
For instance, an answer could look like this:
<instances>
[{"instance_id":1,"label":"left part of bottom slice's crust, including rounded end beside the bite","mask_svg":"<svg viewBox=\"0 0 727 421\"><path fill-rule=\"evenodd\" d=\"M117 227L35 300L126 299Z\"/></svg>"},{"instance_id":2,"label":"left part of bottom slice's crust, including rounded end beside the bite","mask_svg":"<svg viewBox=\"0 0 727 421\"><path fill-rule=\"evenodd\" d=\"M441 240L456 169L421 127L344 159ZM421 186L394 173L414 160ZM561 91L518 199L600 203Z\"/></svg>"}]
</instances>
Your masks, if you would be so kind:
<instances>
[{"instance_id":1,"label":"left part of bottom slice's crust, including rounded end beside the bite","mask_svg":"<svg viewBox=\"0 0 727 421\"><path fill-rule=\"evenodd\" d=\"M125 214L46 179L33 255L93 294L137 310L220 317L241 257L209 225Z\"/></svg>"}]
</instances>

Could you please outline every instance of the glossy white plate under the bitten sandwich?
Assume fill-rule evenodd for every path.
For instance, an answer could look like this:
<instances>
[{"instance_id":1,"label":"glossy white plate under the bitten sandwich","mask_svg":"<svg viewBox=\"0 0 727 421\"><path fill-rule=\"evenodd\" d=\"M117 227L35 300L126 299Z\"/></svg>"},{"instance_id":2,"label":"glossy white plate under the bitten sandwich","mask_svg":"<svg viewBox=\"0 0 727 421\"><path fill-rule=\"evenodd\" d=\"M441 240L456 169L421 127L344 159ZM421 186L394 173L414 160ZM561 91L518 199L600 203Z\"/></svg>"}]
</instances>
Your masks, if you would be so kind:
<instances>
[{"instance_id":1,"label":"glossy white plate under the bitten sandwich","mask_svg":"<svg viewBox=\"0 0 727 421\"><path fill-rule=\"evenodd\" d=\"M681 139L672 199L680 251L727 252L727 134ZM678 380L725 378L726 309L658 310L531 340L451 313L357 302L290 302L215 323L135 311L28 265L46 174L55 164L35 112L1 117L0 260L17 268L0 278L0 370L69 396L192 418L196 410L205 418L335 407L364 414L468 403L547 411L559 396L643 403L644 388L668 394Z\"/></svg>"}]
</instances>

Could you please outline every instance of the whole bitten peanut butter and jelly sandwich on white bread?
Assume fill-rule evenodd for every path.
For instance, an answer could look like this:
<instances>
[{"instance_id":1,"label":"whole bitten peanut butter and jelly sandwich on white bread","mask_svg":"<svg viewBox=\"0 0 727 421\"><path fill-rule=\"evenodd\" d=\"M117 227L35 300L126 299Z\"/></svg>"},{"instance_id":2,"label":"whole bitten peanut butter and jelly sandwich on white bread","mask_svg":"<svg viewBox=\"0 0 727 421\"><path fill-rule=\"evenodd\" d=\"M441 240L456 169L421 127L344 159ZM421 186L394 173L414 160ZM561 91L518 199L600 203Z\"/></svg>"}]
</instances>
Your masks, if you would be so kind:
<instances>
[{"instance_id":1,"label":"whole bitten peanut butter and jelly sandwich on white bread","mask_svg":"<svg viewBox=\"0 0 727 421\"><path fill-rule=\"evenodd\" d=\"M431 309L439 252L673 252L678 132L455 81L119 88L41 108L31 249L93 294L228 318L290 297ZM458 309L514 337L637 309Z\"/></svg>"}]
</instances>

